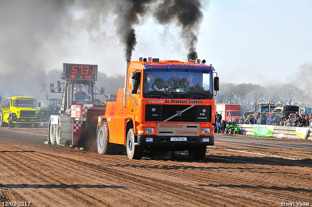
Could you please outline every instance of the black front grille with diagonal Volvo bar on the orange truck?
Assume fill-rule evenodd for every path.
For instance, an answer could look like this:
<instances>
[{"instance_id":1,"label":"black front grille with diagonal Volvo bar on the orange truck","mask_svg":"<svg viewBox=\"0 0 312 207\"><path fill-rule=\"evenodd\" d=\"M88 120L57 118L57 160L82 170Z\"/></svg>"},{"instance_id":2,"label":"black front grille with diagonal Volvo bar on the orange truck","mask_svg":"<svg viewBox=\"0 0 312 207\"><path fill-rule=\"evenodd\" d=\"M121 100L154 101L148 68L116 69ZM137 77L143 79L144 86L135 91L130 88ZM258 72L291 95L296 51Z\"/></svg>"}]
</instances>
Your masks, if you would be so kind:
<instances>
[{"instance_id":1,"label":"black front grille with diagonal Volvo bar on the orange truck","mask_svg":"<svg viewBox=\"0 0 312 207\"><path fill-rule=\"evenodd\" d=\"M145 121L211 122L211 106L148 104L145 106Z\"/></svg>"}]
</instances>

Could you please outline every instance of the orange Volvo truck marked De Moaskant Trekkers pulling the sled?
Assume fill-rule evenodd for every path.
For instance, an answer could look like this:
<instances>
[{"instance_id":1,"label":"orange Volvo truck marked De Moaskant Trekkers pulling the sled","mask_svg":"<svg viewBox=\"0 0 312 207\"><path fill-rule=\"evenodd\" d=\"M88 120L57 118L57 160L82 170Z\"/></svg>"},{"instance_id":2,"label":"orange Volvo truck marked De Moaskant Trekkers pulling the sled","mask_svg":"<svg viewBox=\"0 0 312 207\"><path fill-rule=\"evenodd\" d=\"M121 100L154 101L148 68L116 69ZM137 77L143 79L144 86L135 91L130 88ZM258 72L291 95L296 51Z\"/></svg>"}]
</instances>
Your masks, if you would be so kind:
<instances>
[{"instance_id":1,"label":"orange Volvo truck marked De Moaskant Trekkers pulling the sled","mask_svg":"<svg viewBox=\"0 0 312 207\"><path fill-rule=\"evenodd\" d=\"M99 154L126 147L129 159L144 150L188 151L203 159L214 145L215 99L219 79L206 61L139 58L127 61L125 88L98 116Z\"/></svg>"}]
</instances>

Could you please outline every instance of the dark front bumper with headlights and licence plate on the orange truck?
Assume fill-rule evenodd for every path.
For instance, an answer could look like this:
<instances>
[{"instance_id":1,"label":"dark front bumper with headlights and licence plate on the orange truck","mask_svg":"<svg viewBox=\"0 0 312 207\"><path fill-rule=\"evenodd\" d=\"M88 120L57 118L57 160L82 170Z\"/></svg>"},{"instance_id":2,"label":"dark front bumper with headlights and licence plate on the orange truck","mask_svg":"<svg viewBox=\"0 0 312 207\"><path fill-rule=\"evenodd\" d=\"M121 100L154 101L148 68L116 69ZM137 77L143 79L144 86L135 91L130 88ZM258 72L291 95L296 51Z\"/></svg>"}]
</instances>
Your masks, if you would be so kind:
<instances>
[{"instance_id":1,"label":"dark front bumper with headlights and licence plate on the orange truck","mask_svg":"<svg viewBox=\"0 0 312 207\"><path fill-rule=\"evenodd\" d=\"M175 140L175 141L174 141ZM185 140L185 141L180 141ZM188 147L188 146L213 146L215 136L148 136L137 135L137 145L163 146L163 147Z\"/></svg>"}]
</instances>

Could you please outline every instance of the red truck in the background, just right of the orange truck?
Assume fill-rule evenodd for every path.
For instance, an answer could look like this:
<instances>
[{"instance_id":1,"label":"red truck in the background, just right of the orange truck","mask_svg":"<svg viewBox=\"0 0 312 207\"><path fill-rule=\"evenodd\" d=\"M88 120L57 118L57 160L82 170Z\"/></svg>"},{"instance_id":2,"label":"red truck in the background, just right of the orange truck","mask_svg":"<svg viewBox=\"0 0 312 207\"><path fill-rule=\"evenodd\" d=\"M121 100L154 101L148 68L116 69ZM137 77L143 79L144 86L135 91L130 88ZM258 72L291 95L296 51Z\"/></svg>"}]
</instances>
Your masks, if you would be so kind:
<instances>
[{"instance_id":1,"label":"red truck in the background, just right of the orange truck","mask_svg":"<svg viewBox=\"0 0 312 207\"><path fill-rule=\"evenodd\" d=\"M226 122L238 123L243 116L239 104L215 104L215 111L220 113Z\"/></svg>"}]
</instances>

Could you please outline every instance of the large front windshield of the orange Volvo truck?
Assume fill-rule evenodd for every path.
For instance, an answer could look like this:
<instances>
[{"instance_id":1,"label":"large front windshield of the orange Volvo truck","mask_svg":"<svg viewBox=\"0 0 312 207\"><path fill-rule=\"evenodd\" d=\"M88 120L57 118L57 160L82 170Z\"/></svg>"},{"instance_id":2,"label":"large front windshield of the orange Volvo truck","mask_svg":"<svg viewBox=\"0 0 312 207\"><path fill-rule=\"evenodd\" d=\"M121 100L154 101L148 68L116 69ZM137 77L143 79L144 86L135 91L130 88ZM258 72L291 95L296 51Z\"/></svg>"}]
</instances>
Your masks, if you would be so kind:
<instances>
[{"instance_id":1,"label":"large front windshield of the orange Volvo truck","mask_svg":"<svg viewBox=\"0 0 312 207\"><path fill-rule=\"evenodd\" d=\"M144 94L213 94L212 72L204 70L145 70Z\"/></svg>"}]
</instances>

